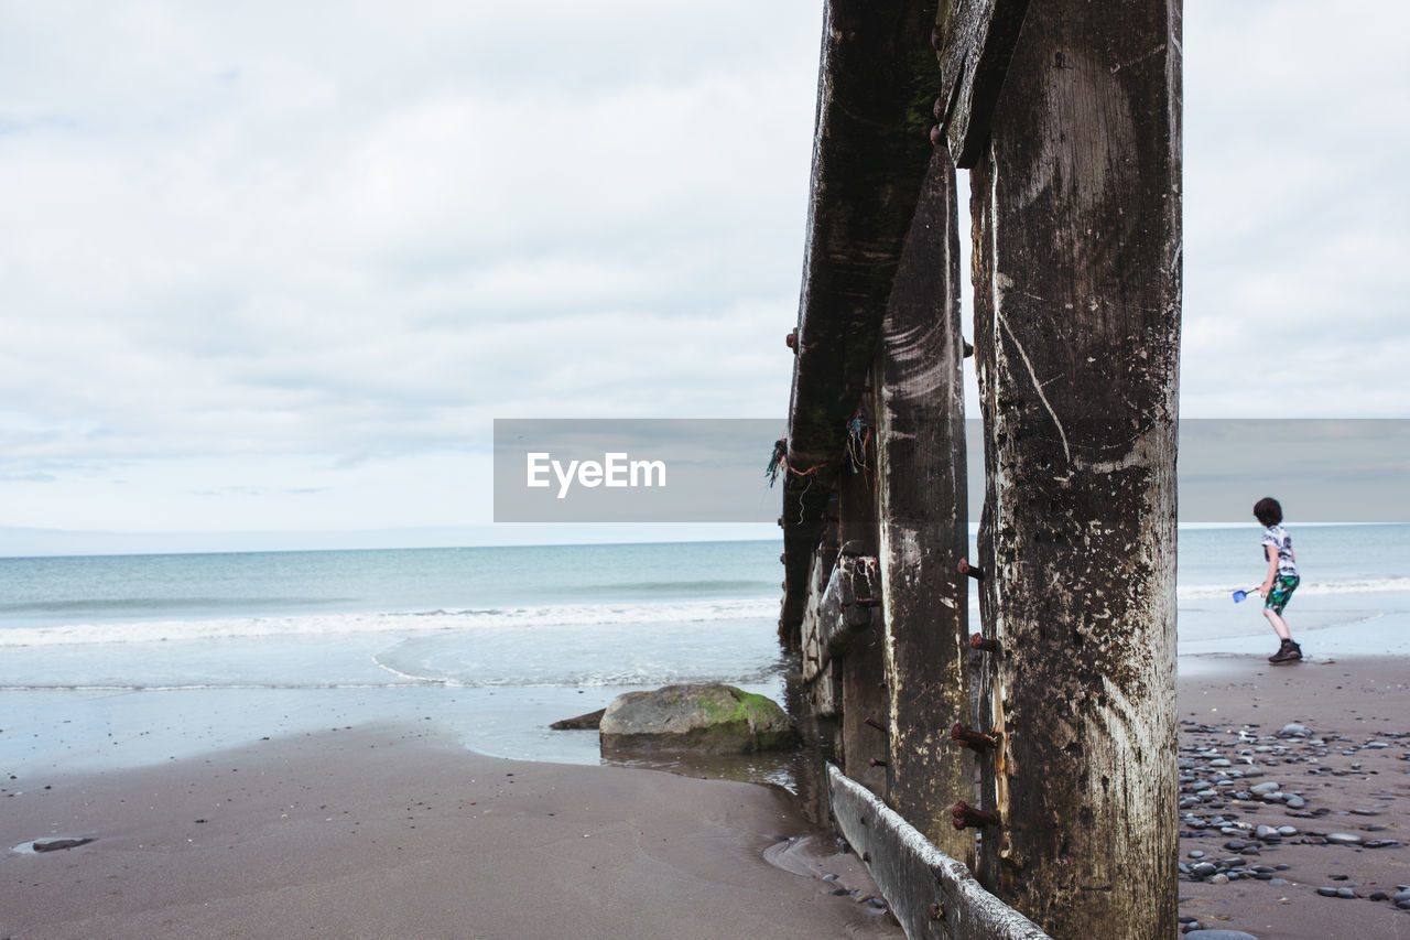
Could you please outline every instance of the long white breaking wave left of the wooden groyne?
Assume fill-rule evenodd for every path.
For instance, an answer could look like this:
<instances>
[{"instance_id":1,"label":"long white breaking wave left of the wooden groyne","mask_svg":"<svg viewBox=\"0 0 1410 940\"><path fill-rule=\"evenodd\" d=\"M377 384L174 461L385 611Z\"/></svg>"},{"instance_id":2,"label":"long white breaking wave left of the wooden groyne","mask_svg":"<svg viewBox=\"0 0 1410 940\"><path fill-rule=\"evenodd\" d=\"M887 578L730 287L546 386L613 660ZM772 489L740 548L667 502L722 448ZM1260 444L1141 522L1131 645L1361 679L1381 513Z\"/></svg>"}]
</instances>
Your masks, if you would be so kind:
<instances>
[{"instance_id":1,"label":"long white breaking wave left of the wooden groyne","mask_svg":"<svg viewBox=\"0 0 1410 940\"><path fill-rule=\"evenodd\" d=\"M79 644L149 644L248 637L319 637L336 634L417 634L455 629L534 627L612 627L615 624L694 624L774 618L776 598L657 601L639 604L560 604L371 614L296 614L226 620L159 620L69 624L0 629L0 648Z\"/></svg>"}]
</instances>

